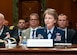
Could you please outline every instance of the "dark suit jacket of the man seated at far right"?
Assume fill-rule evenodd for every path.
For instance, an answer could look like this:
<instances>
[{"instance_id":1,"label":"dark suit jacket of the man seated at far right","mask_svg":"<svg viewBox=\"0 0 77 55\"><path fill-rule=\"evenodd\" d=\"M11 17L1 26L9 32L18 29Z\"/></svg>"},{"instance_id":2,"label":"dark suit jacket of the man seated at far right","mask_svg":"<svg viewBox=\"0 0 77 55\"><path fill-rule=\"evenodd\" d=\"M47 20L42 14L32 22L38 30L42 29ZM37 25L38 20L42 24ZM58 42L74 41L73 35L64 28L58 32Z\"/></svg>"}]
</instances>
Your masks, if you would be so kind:
<instances>
[{"instance_id":1,"label":"dark suit jacket of the man seated at far right","mask_svg":"<svg viewBox=\"0 0 77 55\"><path fill-rule=\"evenodd\" d=\"M67 43L75 43L75 30L67 28Z\"/></svg>"}]
</instances>

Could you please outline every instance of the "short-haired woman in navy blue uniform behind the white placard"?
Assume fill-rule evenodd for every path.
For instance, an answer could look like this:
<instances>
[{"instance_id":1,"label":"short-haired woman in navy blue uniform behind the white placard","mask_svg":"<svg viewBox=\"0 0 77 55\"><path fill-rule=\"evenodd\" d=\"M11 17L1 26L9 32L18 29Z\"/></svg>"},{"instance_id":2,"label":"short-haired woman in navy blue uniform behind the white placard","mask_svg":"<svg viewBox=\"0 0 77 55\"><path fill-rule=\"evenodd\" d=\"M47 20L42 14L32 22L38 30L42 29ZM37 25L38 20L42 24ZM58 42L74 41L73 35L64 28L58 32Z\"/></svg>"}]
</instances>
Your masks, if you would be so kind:
<instances>
[{"instance_id":1,"label":"short-haired woman in navy blue uniform behind the white placard","mask_svg":"<svg viewBox=\"0 0 77 55\"><path fill-rule=\"evenodd\" d=\"M45 27L37 29L36 37L41 36L43 39L53 39L56 43L65 42L64 31L55 26L57 18L58 15L55 9L47 9L44 12Z\"/></svg>"}]
</instances>

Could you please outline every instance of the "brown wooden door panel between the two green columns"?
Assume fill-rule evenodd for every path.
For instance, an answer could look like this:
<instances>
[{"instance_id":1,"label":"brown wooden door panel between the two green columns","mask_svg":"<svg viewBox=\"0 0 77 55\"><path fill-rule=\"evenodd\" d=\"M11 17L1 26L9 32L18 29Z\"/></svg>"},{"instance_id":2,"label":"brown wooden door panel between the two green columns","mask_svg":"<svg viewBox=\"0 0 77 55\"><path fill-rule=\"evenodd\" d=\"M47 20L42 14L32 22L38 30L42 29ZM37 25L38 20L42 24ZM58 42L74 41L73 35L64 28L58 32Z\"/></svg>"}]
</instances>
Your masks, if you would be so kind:
<instances>
[{"instance_id":1,"label":"brown wooden door panel between the two green columns","mask_svg":"<svg viewBox=\"0 0 77 55\"><path fill-rule=\"evenodd\" d=\"M40 14L40 5L38 0L19 0L19 18L29 18L31 13Z\"/></svg>"}]
</instances>

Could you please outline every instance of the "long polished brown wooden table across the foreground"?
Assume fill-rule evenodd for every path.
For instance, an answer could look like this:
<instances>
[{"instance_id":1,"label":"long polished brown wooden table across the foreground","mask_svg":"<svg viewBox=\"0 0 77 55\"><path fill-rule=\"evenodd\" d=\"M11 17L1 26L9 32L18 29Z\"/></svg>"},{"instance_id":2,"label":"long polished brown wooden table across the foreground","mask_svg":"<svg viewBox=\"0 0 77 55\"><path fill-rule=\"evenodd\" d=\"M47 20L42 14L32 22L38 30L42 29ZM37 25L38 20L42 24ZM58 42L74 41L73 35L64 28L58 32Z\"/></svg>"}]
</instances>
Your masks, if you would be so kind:
<instances>
[{"instance_id":1,"label":"long polished brown wooden table across the foreground","mask_svg":"<svg viewBox=\"0 0 77 55\"><path fill-rule=\"evenodd\" d=\"M54 47L54 48L0 48L0 55L77 55L77 44L70 47Z\"/></svg>"}]
</instances>

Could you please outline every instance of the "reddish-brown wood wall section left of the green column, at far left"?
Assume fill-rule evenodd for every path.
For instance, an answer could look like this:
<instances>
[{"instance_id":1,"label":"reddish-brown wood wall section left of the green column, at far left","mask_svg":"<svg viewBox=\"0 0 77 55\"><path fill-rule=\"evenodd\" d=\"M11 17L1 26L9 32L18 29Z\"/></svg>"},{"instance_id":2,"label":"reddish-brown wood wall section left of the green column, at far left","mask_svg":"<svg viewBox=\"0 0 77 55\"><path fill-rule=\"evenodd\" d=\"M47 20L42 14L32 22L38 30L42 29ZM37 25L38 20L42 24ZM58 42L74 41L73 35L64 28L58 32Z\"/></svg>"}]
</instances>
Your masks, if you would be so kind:
<instances>
[{"instance_id":1,"label":"reddish-brown wood wall section left of the green column, at far left","mask_svg":"<svg viewBox=\"0 0 77 55\"><path fill-rule=\"evenodd\" d=\"M5 15L9 25L12 25L12 0L0 0L0 12Z\"/></svg>"}]
</instances>

